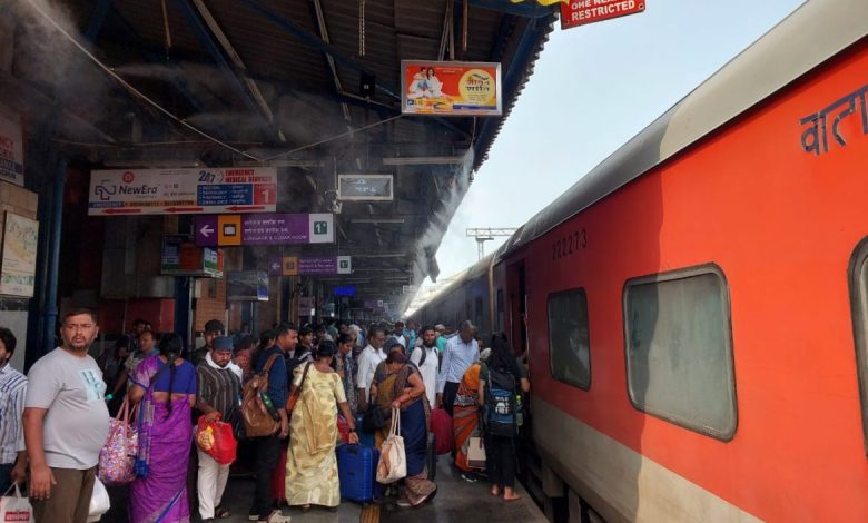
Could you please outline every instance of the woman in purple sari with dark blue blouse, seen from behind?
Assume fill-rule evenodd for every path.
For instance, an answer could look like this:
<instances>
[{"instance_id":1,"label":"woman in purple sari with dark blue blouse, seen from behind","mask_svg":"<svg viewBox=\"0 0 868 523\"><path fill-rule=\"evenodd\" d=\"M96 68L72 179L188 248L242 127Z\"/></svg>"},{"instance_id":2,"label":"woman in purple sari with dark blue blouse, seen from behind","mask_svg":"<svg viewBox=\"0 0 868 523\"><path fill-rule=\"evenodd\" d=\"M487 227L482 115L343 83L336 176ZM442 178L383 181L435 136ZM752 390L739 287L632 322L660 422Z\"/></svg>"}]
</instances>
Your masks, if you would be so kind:
<instances>
[{"instance_id":1,"label":"woman in purple sari with dark blue blouse, seen from behind","mask_svg":"<svg viewBox=\"0 0 868 523\"><path fill-rule=\"evenodd\" d=\"M130 487L132 523L188 523L187 462L193 441L190 407L196 403L196 369L178 357L177 334L160 339L159 354L131 375L129 396L139 405L139 452Z\"/></svg>"}]
</instances>

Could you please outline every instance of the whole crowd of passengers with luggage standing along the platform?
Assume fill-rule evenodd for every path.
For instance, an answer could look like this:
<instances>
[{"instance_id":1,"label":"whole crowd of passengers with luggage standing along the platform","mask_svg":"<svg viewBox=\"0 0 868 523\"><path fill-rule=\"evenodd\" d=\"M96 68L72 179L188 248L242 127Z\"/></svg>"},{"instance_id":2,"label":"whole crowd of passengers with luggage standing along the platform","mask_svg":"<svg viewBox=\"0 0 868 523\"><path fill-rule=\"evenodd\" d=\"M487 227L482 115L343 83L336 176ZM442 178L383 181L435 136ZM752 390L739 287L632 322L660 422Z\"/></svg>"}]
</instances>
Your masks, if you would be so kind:
<instances>
[{"instance_id":1,"label":"whole crowd of passengers with luggage standing along the platform","mask_svg":"<svg viewBox=\"0 0 868 523\"><path fill-rule=\"evenodd\" d=\"M139 413L129 521L189 522L188 480L198 501L193 510L198 509L203 521L229 517L221 501L231 465L197 448L194 427L200 417L236 418L244 384L265 367L272 405L286 405L302 388L290 413L276 408L275 434L239 443L238 460L250 456L245 466L256 484L250 521L288 522L279 510L283 503L303 511L336 510L336 446L358 444L363 428L357 423L373 409L383 418L382 428L364 440L377 447L388 435L392 413L400 409L407 471L386 490L398 506L422 505L437 492L427 468L428 432L435 431L432 409L448 415L452 457L462 477L475 482L486 475L493 496L519 499L513 490L516 428L490 430L486 412L495 406L485 396L492 376L509 375L514 384L510 401L520 404L521 393L530 388L526 368L502 333L481 351L485 344L468 320L452 335L443 325L417 328L412 320L393 327L337 322L297 328L282 323L254 338L246 326L226 336L224 324L211 319L186 352L179 335L157 335L138 319L130 335L96 359L89 355L99 330L93 312L69 312L59 330L58 348L24 376L9 364L16 338L0 327L0 489L27 485L37 523L87 521L109 420L125 401ZM516 416L514 427L520 423ZM470 443L479 438L486 451L483 464L468 458ZM188 467L196 471L190 473L195 481ZM282 492L275 492L275 484Z\"/></svg>"}]
</instances>

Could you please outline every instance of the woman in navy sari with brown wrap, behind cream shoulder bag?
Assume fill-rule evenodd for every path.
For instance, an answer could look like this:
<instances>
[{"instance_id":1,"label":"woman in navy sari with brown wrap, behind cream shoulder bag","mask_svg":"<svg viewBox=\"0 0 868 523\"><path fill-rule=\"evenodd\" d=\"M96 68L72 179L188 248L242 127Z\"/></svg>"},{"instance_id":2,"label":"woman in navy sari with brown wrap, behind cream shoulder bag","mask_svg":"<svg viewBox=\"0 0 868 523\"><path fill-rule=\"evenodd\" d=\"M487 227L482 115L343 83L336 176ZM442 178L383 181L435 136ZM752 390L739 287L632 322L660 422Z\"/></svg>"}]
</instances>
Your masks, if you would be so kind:
<instances>
[{"instance_id":1,"label":"woman in navy sari with brown wrap, behind cream shoulder bag","mask_svg":"<svg viewBox=\"0 0 868 523\"><path fill-rule=\"evenodd\" d=\"M432 500L437 493L437 485L428 480L425 452L428 444L428 425L431 407L425 396L425 384L415 365L401 349L393 349L384 362L389 376L394 376L389 391L379 385L373 391L377 394L388 393L394 399L391 408L401 409L401 436L404 438L404 453L407 460L407 476L398 490L397 505L402 507L417 506Z\"/></svg>"}]
</instances>

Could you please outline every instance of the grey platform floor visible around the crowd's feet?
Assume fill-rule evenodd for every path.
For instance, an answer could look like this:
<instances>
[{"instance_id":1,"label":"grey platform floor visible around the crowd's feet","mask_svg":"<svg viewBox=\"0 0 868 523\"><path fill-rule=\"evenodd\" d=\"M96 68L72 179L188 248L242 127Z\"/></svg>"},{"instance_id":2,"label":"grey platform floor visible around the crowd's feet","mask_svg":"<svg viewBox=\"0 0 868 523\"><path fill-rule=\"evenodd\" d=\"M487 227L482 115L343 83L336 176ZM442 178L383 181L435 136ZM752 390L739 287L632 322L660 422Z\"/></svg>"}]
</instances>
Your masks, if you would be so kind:
<instances>
[{"instance_id":1,"label":"grey platform floor visible around the crowd's feet","mask_svg":"<svg viewBox=\"0 0 868 523\"><path fill-rule=\"evenodd\" d=\"M401 509L395 500L387 499L381 503L362 505L344 501L336 512L313 507L308 512L299 509L283 506L284 515L289 515L293 523L464 523L468 517L485 514L490 521L521 521L522 523L545 523L545 516L534 504L524 487L516 483L515 492L522 499L514 502L504 502L502 499L492 497L489 494L489 483L480 480L468 483L461 478L461 474L452 466L450 456L440 456L437 460L437 495L422 506L414 509ZM247 509L253 497L254 482L249 476L230 476L224 495L224 506L231 516L218 520L225 523L247 522ZM100 520L103 523L126 523L127 496L129 489L109 489L111 495L111 510ZM195 511L195 494L189 492L191 506ZM191 514L193 522L200 522L198 513Z\"/></svg>"}]
</instances>

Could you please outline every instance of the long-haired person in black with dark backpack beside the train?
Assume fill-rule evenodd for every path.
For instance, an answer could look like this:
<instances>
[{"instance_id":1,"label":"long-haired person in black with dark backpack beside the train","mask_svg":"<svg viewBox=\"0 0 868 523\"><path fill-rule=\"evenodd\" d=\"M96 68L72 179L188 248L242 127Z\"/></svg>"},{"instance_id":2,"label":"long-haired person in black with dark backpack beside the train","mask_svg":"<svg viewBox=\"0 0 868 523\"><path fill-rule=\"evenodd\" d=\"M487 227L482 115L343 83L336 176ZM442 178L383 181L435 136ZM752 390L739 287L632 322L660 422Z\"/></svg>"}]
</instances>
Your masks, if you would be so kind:
<instances>
[{"instance_id":1,"label":"long-haired person in black with dark backpack beside the train","mask_svg":"<svg viewBox=\"0 0 868 523\"><path fill-rule=\"evenodd\" d=\"M515 486L515 436L519 435L519 389L527 393L527 373L512 353L506 335L491 337L491 355L480 367L480 405L485 427L485 470L491 494L520 499Z\"/></svg>"}]
</instances>

